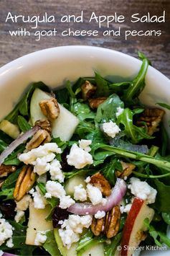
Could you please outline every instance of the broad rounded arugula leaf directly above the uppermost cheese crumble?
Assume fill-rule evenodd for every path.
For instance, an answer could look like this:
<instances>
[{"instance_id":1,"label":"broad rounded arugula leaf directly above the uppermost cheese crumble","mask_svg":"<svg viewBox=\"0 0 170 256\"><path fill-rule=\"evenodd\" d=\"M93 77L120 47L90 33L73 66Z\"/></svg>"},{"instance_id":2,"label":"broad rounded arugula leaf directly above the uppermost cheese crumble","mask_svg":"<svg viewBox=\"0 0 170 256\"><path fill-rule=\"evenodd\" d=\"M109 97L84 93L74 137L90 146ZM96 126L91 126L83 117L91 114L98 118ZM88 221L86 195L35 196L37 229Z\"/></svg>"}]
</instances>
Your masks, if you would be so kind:
<instances>
[{"instance_id":1,"label":"broad rounded arugula leaf directly above the uppermost cheese crumble","mask_svg":"<svg viewBox=\"0 0 170 256\"><path fill-rule=\"evenodd\" d=\"M115 114L118 112L118 107L123 108L124 103L121 101L117 94L110 95L107 100L98 106L95 120L98 123L104 123L110 120L115 122L117 119Z\"/></svg>"}]
</instances>

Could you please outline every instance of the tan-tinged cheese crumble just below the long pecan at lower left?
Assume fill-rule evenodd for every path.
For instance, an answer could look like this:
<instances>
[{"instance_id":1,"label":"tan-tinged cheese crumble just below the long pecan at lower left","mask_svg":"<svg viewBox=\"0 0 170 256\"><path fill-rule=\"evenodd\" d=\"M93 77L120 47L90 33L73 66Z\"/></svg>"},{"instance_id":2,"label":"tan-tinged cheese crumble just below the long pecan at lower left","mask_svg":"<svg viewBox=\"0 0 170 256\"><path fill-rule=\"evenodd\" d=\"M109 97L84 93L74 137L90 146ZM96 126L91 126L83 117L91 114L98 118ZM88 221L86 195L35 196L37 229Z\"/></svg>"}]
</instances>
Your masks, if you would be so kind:
<instances>
[{"instance_id":1,"label":"tan-tinged cheese crumble just below the long pecan at lower left","mask_svg":"<svg viewBox=\"0 0 170 256\"><path fill-rule=\"evenodd\" d=\"M27 210L29 207L29 203L32 202L32 198L30 195L24 195L24 198L20 200L19 202L16 202L16 216L14 217L15 221L18 223L22 217L24 216L24 211Z\"/></svg>"}]
</instances>

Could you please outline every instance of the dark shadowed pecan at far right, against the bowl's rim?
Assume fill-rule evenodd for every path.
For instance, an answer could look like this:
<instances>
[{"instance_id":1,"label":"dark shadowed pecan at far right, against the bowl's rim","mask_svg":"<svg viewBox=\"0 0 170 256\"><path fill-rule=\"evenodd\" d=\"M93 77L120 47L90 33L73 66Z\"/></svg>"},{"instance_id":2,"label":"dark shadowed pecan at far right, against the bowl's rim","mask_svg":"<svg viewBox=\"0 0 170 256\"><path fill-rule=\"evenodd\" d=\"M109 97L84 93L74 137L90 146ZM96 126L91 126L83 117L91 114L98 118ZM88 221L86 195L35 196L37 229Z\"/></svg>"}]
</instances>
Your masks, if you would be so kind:
<instances>
[{"instance_id":1,"label":"dark shadowed pecan at far right, against the bowl's rim","mask_svg":"<svg viewBox=\"0 0 170 256\"><path fill-rule=\"evenodd\" d=\"M146 122L148 135L151 136L156 131L159 131L158 126L164 117L164 113L164 110L159 108L146 108L136 124L138 126L143 126L143 122Z\"/></svg>"}]
</instances>

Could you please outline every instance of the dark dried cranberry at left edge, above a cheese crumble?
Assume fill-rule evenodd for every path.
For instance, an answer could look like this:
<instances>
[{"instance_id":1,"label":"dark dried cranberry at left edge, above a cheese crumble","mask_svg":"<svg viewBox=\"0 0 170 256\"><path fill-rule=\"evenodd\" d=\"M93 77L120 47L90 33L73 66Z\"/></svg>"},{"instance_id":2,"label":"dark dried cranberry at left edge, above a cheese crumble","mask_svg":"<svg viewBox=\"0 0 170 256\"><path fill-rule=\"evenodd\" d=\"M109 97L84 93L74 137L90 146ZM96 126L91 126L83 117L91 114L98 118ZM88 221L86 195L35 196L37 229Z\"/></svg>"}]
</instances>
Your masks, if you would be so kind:
<instances>
[{"instance_id":1,"label":"dark dried cranberry at left edge, above a cheese crumble","mask_svg":"<svg viewBox=\"0 0 170 256\"><path fill-rule=\"evenodd\" d=\"M15 208L16 203L14 200L6 200L0 204L1 213L5 219L14 219L14 216L16 215Z\"/></svg>"}]
</instances>

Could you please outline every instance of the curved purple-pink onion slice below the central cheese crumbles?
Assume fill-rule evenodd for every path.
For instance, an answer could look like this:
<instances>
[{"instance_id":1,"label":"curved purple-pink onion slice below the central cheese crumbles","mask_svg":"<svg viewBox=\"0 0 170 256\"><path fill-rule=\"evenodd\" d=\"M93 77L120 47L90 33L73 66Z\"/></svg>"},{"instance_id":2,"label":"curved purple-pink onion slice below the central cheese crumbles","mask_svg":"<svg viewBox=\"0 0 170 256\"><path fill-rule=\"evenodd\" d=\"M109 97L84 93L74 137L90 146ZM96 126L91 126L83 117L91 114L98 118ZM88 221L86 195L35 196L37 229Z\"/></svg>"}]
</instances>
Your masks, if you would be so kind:
<instances>
[{"instance_id":1,"label":"curved purple-pink onion slice below the central cheese crumbles","mask_svg":"<svg viewBox=\"0 0 170 256\"><path fill-rule=\"evenodd\" d=\"M95 215L98 211L110 211L114 206L121 202L123 196L126 194L126 182L122 179L117 179L113 187L111 195L108 196L105 205L102 203L93 206L92 203L75 203L70 206L67 211L78 215Z\"/></svg>"}]
</instances>

